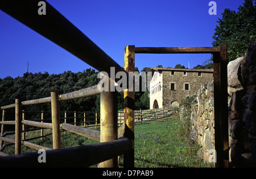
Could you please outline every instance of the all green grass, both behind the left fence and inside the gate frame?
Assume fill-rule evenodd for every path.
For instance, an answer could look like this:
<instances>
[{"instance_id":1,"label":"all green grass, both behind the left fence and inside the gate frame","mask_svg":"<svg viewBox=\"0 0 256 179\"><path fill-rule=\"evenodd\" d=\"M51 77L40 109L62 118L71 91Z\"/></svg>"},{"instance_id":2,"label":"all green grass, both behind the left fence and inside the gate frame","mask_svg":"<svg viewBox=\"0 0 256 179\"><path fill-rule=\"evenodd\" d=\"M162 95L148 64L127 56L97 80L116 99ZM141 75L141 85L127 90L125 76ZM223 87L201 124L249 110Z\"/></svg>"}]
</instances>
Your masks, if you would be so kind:
<instances>
[{"instance_id":1,"label":"all green grass, both behind the left fence and inside the gate frame","mask_svg":"<svg viewBox=\"0 0 256 179\"><path fill-rule=\"evenodd\" d=\"M158 121L143 122L143 124L135 124L135 167L212 167L213 165L208 165L199 159L197 151L200 147L198 144L189 142L186 135L187 132L184 132L185 130L178 116ZM26 138L30 138L29 135L26 134ZM40 131L38 131L38 135L40 135ZM47 136L42 140L36 139L31 142L52 148L52 136ZM97 143L97 141L72 134L71 132L67 132L67 134L62 132L61 134L62 147L93 143ZM7 148L4 152L6 151ZM26 152L34 152L34 150L22 146L22 153ZM14 153L14 145L8 147L7 153ZM93 167L96 167L96 165ZM122 157L120 167L122 167Z\"/></svg>"}]
</instances>

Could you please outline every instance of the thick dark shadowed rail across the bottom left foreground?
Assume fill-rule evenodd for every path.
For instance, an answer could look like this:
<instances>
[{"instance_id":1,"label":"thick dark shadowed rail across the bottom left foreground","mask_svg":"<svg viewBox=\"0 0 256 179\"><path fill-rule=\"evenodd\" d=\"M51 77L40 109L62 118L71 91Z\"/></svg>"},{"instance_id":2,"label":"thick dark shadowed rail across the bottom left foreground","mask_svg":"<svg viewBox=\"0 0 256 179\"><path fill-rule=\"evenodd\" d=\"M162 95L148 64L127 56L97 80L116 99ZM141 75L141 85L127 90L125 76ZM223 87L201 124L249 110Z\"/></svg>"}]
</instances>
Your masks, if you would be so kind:
<instances>
[{"instance_id":1,"label":"thick dark shadowed rail across the bottom left foreground","mask_svg":"<svg viewBox=\"0 0 256 179\"><path fill-rule=\"evenodd\" d=\"M130 139L104 143L81 145L78 147L52 149L46 151L46 163L39 163L38 152L0 157L0 168L5 167L88 167L123 155L133 148Z\"/></svg>"}]
</instances>

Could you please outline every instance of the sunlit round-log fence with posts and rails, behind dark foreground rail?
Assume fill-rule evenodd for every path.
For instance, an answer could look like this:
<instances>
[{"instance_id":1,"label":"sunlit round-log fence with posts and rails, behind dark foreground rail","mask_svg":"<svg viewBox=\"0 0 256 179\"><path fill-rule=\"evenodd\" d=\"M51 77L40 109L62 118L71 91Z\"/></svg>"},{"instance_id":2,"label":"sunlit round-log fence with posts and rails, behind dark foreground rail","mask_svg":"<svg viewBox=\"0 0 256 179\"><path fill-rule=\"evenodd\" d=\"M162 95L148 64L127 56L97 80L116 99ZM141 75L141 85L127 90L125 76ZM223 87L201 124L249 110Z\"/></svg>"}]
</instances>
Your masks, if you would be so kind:
<instances>
[{"instance_id":1,"label":"sunlit round-log fence with posts and rails, behind dark foreground rail","mask_svg":"<svg viewBox=\"0 0 256 179\"><path fill-rule=\"evenodd\" d=\"M88 88L88 89L90 89L90 88ZM92 89L95 91L96 88L92 88ZM81 93L81 91L83 91L83 93ZM23 128L23 131L22 131L22 125L23 126L28 125L28 126L40 127L40 129L42 129L42 128L51 128L52 129L52 138L53 138L53 149L60 149L61 148L60 130L71 131L75 134L85 136L86 138L93 139L93 140L96 140L96 141L100 141L101 143L104 143L105 141L117 140L118 139L117 138L117 106L116 106L116 103L114 101L112 101L112 99L117 98L116 93L113 93L112 95L109 95L112 92L105 92L104 91L104 92L100 93L100 95L101 95L101 109L104 109L104 106L106 106L105 109L108 110L108 111L104 111L104 110L101 111L101 115L100 115L100 118L101 118L101 121L102 121L102 122L100 122L101 132L96 131L96 130L91 130L89 128L76 126L76 123L77 123L76 119L79 118L79 116L76 116L76 113L77 113L76 111L73 111L73 113L74 113L73 118L75 119L75 121L74 121L75 125L71 125L71 124L68 124L68 123L63 123L63 124L60 125L59 101L63 100L63 98L61 99L61 96L64 97L65 100L68 100L68 99L82 98L82 97L87 97L87 96L92 95L92 93L85 93L85 91L88 91L88 90L86 90L86 89L80 90L77 93L76 93L76 91L74 91L73 93L69 93L68 95L66 95L66 94L59 95L57 92L52 92L51 93L51 100L49 100L49 98L42 98L42 99L39 99L39 100L35 99L35 100L23 101L22 102L22 101L20 101L20 99L16 99L16 101L15 101L15 121L8 121L8 120L5 119L6 110L11 108L11 107L14 107L14 106L13 105L7 105L7 106L1 107L1 109L3 109L3 116L2 116L2 122L1 122L2 131L1 131L1 137L0 137L1 147L3 146L3 141L7 141L9 143L14 143L15 144L15 155L20 154L21 145L24 145L26 147L30 147L30 148L33 148L33 149L49 150L49 148L46 148L46 147L28 142L27 140L30 140L30 139L25 139L25 136L23 136L23 140L22 140L21 139L21 133L27 131L27 130L24 130L24 128ZM78 95L76 95L76 94L78 94ZM98 92L94 93L94 94L98 94ZM40 122L32 121L32 120L26 120L25 115L23 115L26 112L21 110L22 106L24 106L24 105L34 105L34 104L43 103L43 102L51 102L51 111L50 112L51 112L51 115L52 115L52 117L51 117L52 122L51 123L43 122L43 120L45 120L44 117L43 117L44 111L38 111L38 112L42 113L42 119L41 119ZM111 102L111 103L109 103L109 102ZM113 106L113 107L109 108L110 106ZM47 111L47 112L49 113L49 111ZM78 113L80 113L80 112L78 112ZM106 114L108 114L108 115L106 115ZM109 114L112 114L112 116L110 116ZM116 115L113 115L113 114L116 114ZM67 111L65 111L65 118L64 118L65 122L67 122L67 118L68 118L67 117ZM85 113L84 113L83 118L85 119ZM96 125L95 126L97 126L97 118L99 118L99 116L97 116L97 112L95 113L95 118L96 118L96 120L95 120ZM111 121L109 119L113 119L115 122ZM105 120L105 122L104 122L104 120ZM85 123L85 120L84 120L84 123ZM109 123L109 124L107 124L107 123ZM15 139L5 138L5 137L2 136L2 135L5 134L4 133L5 132L5 130L4 130L5 127L4 126L6 124L15 124L15 133L14 133L15 134ZM105 124L105 125L102 125L102 124ZM114 128L111 129L110 126L113 126ZM104 132L104 130L105 130L105 132ZM112 134L111 134L112 131L114 132L114 136L109 137L109 136L112 136ZM108 137L104 139L105 136L108 136ZM130 142L130 140L129 140L129 142ZM127 141L126 141L126 143L127 143ZM122 146L120 146L120 147L122 147ZM122 154L124 154L124 153L122 153ZM0 155L6 156L6 154L3 153L2 151L1 151ZM109 156L109 154L107 156ZM116 155L114 157L115 159L110 158L110 160L108 160L108 161L102 160L102 159L104 159L104 157L102 157L101 167L117 167L118 166L117 156L118 155ZM11 159L12 158L10 156L10 160ZM3 160L3 157L0 158L0 163L2 162L2 160ZM7 165L5 165L5 166L7 166Z\"/></svg>"}]
</instances>

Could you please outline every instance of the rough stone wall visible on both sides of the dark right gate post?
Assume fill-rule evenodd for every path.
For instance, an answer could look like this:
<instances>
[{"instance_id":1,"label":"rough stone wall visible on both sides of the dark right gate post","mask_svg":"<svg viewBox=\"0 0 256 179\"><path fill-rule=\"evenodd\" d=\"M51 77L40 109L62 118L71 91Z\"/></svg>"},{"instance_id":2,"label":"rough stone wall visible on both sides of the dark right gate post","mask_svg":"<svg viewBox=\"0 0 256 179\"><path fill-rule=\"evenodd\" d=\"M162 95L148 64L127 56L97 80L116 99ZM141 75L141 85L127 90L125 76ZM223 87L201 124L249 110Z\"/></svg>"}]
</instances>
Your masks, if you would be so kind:
<instances>
[{"instance_id":1,"label":"rough stone wall visible on both sides of the dark right gate post","mask_svg":"<svg viewBox=\"0 0 256 179\"><path fill-rule=\"evenodd\" d=\"M202 147L204 159L214 148L213 81L195 94L189 115L190 138ZM180 108L182 119L184 109ZM229 160L232 167L256 167L256 39L246 55L228 64Z\"/></svg>"}]
</instances>

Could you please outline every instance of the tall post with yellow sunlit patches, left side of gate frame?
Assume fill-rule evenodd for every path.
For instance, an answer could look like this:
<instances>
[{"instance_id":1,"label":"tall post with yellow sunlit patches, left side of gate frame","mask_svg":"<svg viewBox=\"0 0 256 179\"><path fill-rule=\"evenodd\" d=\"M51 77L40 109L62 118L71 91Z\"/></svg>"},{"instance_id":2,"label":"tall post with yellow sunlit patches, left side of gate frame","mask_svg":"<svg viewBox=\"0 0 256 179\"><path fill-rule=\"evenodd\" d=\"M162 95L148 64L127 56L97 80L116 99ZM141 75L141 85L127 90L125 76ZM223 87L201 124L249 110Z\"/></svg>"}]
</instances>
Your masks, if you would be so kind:
<instances>
[{"instance_id":1,"label":"tall post with yellow sunlit patches, left side of gate frame","mask_svg":"<svg viewBox=\"0 0 256 179\"><path fill-rule=\"evenodd\" d=\"M134 73L135 46L127 45L125 48L125 70L126 72ZM126 138L133 141L134 144L134 77L133 83L129 84L129 89L124 90L124 111L123 122L125 123ZM123 166L134 167L134 147L129 152L123 155Z\"/></svg>"}]
</instances>

